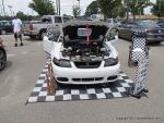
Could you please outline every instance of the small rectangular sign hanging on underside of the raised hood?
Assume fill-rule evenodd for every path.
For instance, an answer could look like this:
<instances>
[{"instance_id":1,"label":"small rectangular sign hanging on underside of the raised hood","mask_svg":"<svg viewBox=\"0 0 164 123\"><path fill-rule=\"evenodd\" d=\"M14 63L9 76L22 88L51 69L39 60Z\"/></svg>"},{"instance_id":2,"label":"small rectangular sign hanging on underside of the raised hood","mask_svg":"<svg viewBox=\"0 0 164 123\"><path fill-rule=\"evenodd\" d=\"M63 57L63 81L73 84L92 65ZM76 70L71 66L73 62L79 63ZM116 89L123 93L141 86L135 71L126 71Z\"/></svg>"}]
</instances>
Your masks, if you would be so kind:
<instances>
[{"instance_id":1,"label":"small rectangular sign hanging on underside of the raised hood","mask_svg":"<svg viewBox=\"0 0 164 123\"><path fill-rule=\"evenodd\" d=\"M91 36L91 28L78 28L78 36Z\"/></svg>"}]
</instances>

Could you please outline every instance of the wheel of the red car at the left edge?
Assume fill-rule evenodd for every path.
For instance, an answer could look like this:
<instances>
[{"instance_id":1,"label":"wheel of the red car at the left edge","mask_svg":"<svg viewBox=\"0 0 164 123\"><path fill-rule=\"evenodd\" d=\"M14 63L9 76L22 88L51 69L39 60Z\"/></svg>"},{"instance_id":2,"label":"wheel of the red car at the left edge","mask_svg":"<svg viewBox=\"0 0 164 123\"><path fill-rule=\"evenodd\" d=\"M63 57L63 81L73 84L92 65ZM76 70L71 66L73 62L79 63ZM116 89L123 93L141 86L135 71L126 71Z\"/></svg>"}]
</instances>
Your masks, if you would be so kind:
<instances>
[{"instance_id":1,"label":"wheel of the red car at the left edge","mask_svg":"<svg viewBox=\"0 0 164 123\"><path fill-rule=\"evenodd\" d=\"M7 64L7 56L3 50L0 50L0 70L3 70Z\"/></svg>"}]
</instances>

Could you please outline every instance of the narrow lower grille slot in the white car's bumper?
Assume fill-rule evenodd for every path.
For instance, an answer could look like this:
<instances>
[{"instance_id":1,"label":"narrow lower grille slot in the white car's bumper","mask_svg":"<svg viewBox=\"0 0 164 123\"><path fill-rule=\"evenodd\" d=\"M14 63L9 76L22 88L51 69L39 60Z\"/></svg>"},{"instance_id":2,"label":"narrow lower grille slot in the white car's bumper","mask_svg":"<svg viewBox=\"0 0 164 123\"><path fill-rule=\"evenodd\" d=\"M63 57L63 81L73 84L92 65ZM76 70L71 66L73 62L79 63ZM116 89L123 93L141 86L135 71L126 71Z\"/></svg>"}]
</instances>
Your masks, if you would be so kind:
<instances>
[{"instance_id":1,"label":"narrow lower grille slot in the white car's bumper","mask_svg":"<svg viewBox=\"0 0 164 123\"><path fill-rule=\"evenodd\" d=\"M96 82L103 81L103 77L72 78L73 82Z\"/></svg>"}]
</instances>

